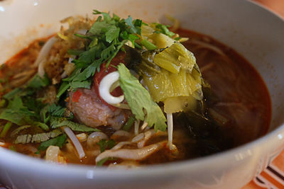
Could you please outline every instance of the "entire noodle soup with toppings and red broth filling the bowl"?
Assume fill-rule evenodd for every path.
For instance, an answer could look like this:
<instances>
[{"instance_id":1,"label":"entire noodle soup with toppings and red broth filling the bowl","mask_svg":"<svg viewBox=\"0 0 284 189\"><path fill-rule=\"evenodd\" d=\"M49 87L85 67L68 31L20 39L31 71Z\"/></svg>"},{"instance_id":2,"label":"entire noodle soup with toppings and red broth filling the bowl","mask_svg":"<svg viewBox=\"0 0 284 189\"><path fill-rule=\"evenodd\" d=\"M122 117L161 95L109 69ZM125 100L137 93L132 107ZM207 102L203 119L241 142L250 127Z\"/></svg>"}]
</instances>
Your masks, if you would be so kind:
<instances>
[{"instance_id":1,"label":"entire noodle soup with toppings and red broth filling the bowl","mask_svg":"<svg viewBox=\"0 0 284 189\"><path fill-rule=\"evenodd\" d=\"M0 146L58 164L194 159L265 134L263 80L230 47L94 11L3 64ZM102 15L102 16L100 16Z\"/></svg>"}]
</instances>

